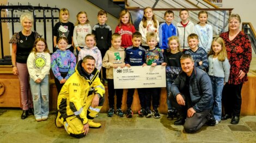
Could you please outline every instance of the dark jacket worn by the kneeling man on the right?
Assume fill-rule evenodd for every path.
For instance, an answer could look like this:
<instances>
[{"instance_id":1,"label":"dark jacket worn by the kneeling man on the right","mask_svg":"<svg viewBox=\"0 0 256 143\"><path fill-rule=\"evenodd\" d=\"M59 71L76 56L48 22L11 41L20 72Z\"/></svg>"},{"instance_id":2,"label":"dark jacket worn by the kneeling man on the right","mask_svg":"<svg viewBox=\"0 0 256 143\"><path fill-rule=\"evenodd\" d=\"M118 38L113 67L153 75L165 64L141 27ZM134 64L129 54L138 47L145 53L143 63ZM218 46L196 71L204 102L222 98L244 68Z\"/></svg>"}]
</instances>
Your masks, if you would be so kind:
<instances>
[{"instance_id":1,"label":"dark jacket worn by the kneeling man on the right","mask_svg":"<svg viewBox=\"0 0 256 143\"><path fill-rule=\"evenodd\" d=\"M182 94L186 87L186 73L181 72L173 82L170 90L176 99L176 95ZM202 112L212 108L214 101L212 95L211 80L207 73L202 69L194 67L190 77L189 92L193 109Z\"/></svg>"}]
</instances>

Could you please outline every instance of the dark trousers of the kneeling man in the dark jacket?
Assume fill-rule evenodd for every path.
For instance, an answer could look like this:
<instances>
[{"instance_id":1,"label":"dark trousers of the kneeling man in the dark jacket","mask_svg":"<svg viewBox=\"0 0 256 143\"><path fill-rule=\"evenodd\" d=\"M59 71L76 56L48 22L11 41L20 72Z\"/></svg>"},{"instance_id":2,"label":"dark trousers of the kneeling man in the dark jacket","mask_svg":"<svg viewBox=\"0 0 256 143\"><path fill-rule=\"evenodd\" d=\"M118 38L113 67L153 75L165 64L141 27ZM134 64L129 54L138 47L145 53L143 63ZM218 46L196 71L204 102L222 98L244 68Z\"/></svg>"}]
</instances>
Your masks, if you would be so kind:
<instances>
[{"instance_id":1,"label":"dark trousers of the kneeling man in the dark jacket","mask_svg":"<svg viewBox=\"0 0 256 143\"><path fill-rule=\"evenodd\" d=\"M179 105L173 95L170 96L170 101L172 101L173 107L178 109L180 118L186 119L184 124L184 130L187 133L197 132L205 124L205 122L208 121L210 109L202 112L194 113L192 117L188 118L187 110L192 107L191 99L190 99L190 96L185 97L182 95L182 97L185 100L185 106Z\"/></svg>"}]
</instances>

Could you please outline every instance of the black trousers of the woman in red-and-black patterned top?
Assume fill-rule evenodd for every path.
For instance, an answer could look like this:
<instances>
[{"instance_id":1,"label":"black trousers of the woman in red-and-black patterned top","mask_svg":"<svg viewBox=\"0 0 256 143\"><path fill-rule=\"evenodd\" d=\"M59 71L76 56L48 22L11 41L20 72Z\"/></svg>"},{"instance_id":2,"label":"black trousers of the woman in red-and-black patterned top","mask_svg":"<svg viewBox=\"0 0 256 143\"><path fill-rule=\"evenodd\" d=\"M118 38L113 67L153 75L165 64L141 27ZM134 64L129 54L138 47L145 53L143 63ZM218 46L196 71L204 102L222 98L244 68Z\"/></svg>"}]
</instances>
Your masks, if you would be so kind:
<instances>
[{"instance_id":1,"label":"black trousers of the woman in red-and-black patterned top","mask_svg":"<svg viewBox=\"0 0 256 143\"><path fill-rule=\"evenodd\" d=\"M222 91L222 104L225 114L240 116L242 104L242 86L226 83Z\"/></svg>"}]
</instances>

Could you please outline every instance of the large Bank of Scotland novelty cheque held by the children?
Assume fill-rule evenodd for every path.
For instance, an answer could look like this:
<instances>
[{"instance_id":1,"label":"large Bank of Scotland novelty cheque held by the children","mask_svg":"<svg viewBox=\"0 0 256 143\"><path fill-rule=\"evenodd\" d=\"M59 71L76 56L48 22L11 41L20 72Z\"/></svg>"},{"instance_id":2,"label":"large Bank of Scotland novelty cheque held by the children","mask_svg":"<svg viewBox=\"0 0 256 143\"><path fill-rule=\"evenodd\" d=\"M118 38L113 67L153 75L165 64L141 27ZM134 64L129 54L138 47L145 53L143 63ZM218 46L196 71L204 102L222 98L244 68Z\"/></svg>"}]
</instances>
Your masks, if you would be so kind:
<instances>
[{"instance_id":1,"label":"large Bank of Scotland novelty cheque held by the children","mask_svg":"<svg viewBox=\"0 0 256 143\"><path fill-rule=\"evenodd\" d=\"M166 67L131 66L113 68L114 88L166 87Z\"/></svg>"}]
</instances>

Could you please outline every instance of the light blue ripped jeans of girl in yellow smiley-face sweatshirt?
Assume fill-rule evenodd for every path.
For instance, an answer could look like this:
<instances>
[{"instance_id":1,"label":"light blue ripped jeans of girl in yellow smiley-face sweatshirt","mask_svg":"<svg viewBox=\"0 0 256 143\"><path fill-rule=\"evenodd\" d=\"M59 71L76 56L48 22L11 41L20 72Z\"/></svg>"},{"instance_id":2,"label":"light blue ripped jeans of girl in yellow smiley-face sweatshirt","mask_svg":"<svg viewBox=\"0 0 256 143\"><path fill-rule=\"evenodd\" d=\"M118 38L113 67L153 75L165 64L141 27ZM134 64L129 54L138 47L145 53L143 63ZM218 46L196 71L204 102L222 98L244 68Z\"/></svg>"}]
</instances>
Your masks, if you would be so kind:
<instances>
[{"instance_id":1,"label":"light blue ripped jeans of girl in yellow smiley-face sweatshirt","mask_svg":"<svg viewBox=\"0 0 256 143\"><path fill-rule=\"evenodd\" d=\"M49 77L42 79L41 83L29 80L34 104L35 119L47 117L49 114Z\"/></svg>"}]
</instances>

